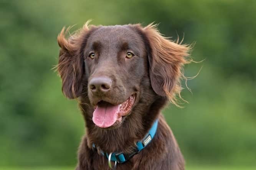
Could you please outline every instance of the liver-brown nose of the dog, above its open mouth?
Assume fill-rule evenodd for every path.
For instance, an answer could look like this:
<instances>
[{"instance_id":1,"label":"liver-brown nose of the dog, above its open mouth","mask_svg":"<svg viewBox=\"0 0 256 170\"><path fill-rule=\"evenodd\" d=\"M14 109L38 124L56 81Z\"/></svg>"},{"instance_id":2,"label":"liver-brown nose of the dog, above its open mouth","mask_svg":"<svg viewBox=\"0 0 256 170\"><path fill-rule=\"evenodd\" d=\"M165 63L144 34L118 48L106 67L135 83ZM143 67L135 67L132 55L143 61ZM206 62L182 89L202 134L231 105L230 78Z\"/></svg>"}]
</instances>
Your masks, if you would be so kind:
<instances>
[{"instance_id":1,"label":"liver-brown nose of the dog, above its open mouth","mask_svg":"<svg viewBox=\"0 0 256 170\"><path fill-rule=\"evenodd\" d=\"M89 82L89 90L93 94L104 94L111 89L112 80L108 77L95 77Z\"/></svg>"}]
</instances>

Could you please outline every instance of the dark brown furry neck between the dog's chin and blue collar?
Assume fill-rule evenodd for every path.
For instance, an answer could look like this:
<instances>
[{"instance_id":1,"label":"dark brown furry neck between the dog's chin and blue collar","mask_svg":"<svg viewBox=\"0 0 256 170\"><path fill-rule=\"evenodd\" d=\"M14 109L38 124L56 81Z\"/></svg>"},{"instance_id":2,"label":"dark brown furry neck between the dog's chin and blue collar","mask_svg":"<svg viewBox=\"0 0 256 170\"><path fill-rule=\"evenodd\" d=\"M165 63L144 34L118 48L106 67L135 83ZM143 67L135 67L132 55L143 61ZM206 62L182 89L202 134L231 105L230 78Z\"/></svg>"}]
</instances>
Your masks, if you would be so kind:
<instances>
[{"instance_id":1,"label":"dark brown furry neck between the dog's chin and blue collar","mask_svg":"<svg viewBox=\"0 0 256 170\"><path fill-rule=\"evenodd\" d=\"M136 142L144 138L154 121L159 117L160 109L165 105L166 100L165 97L159 97L150 105L137 104L121 126L115 129L97 127L92 122L93 107L80 104L86 121L88 147L91 148L94 143L98 150L108 153L132 152L136 147Z\"/></svg>"}]
</instances>

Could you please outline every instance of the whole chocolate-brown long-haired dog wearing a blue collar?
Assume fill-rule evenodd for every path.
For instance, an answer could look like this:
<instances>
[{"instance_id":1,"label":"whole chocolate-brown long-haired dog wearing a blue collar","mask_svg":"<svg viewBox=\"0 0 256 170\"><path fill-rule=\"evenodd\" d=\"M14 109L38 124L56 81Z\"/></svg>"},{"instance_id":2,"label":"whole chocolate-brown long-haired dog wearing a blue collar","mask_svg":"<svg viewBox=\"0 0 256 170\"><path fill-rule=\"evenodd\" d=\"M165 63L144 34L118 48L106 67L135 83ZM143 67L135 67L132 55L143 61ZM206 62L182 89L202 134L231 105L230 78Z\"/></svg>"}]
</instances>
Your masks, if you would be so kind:
<instances>
[{"instance_id":1,"label":"whole chocolate-brown long-haired dog wearing a blue collar","mask_svg":"<svg viewBox=\"0 0 256 170\"><path fill-rule=\"evenodd\" d=\"M161 109L169 100L178 105L190 46L153 24L87 22L68 31L58 36L57 68L64 95L78 100L86 122L76 170L184 170Z\"/></svg>"}]
</instances>

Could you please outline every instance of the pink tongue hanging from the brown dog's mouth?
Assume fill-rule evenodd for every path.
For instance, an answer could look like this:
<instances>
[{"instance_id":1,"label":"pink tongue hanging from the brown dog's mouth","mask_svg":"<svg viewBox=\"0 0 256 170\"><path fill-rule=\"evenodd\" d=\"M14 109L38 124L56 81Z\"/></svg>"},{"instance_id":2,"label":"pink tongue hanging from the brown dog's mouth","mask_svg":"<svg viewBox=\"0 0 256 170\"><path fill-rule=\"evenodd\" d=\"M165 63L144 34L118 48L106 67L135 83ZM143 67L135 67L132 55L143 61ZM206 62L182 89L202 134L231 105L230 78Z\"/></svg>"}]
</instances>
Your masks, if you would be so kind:
<instances>
[{"instance_id":1,"label":"pink tongue hanging from the brown dog's mouth","mask_svg":"<svg viewBox=\"0 0 256 170\"><path fill-rule=\"evenodd\" d=\"M119 105L101 102L92 113L92 121L100 128L108 128L117 121L118 112Z\"/></svg>"}]
</instances>

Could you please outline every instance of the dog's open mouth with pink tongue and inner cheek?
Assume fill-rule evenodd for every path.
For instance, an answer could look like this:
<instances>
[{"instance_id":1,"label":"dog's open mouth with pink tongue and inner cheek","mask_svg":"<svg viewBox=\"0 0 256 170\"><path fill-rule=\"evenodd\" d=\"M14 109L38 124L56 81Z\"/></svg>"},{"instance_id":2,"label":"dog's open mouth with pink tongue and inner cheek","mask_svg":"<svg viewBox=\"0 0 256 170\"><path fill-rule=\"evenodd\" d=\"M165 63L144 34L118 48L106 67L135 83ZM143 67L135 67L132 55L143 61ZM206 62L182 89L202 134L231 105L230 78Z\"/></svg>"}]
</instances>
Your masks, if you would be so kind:
<instances>
[{"instance_id":1,"label":"dog's open mouth with pink tongue and inner cheek","mask_svg":"<svg viewBox=\"0 0 256 170\"><path fill-rule=\"evenodd\" d=\"M92 114L92 121L100 128L109 128L115 123L120 123L122 117L129 114L135 101L135 95L131 95L125 102L113 105L109 102L100 101L97 103Z\"/></svg>"}]
</instances>

